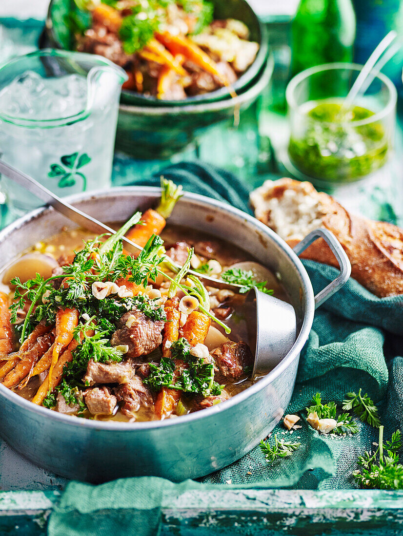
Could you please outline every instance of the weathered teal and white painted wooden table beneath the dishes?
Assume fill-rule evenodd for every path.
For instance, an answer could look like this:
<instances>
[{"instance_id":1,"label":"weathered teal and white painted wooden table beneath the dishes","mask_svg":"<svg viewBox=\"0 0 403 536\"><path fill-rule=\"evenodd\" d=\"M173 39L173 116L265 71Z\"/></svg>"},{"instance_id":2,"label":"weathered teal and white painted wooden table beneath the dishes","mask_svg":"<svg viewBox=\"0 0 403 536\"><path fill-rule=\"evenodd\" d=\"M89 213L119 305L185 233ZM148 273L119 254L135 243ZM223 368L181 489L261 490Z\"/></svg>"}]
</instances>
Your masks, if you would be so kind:
<instances>
[{"instance_id":1,"label":"weathered teal and white painted wooden table beneath the dishes","mask_svg":"<svg viewBox=\"0 0 403 536\"><path fill-rule=\"evenodd\" d=\"M24 51L35 46L43 24L30 20L16 25L10 19L3 23L6 28L4 35L11 43L13 40L21 42L22 36L25 36ZM251 188L267 178L287 174L278 158L288 136L287 121L282 111L288 77L287 28L284 21L269 25L270 42L277 60L275 75L262 98L241 114L237 129L230 123L215 126L197 145L175 155L170 161L134 161L123 154L116 154L113 184L130 184L134 178L158 172L167 163L197 158L229 169ZM402 132L399 127L396 156L389 166L370 181L332 192L347 209L403 225ZM4 226L10 221L10 215L4 204L0 206L1 225ZM46 534L47 518L60 500L65 482L63 478L31 464L0 442L0 536ZM403 534L403 492L192 491L165 499L162 524L163 536L392 536Z\"/></svg>"}]
</instances>

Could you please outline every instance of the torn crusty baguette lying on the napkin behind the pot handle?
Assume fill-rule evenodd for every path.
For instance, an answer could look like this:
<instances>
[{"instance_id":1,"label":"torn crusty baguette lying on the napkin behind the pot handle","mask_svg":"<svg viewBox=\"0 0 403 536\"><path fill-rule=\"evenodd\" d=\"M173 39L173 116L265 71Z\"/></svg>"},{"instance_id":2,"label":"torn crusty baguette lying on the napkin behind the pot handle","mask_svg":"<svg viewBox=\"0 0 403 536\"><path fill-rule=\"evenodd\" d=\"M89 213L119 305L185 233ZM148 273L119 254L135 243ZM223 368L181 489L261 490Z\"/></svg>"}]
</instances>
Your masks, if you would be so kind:
<instances>
[{"instance_id":1,"label":"torn crusty baguette lying on the napkin behind the pot handle","mask_svg":"<svg viewBox=\"0 0 403 536\"><path fill-rule=\"evenodd\" d=\"M351 262L351 276L379 297L403 294L403 230L395 225L349 214L333 197L310 182L291 178L266 181L251 193L255 216L291 247L311 230L332 231ZM323 239L301 257L338 267Z\"/></svg>"}]
</instances>

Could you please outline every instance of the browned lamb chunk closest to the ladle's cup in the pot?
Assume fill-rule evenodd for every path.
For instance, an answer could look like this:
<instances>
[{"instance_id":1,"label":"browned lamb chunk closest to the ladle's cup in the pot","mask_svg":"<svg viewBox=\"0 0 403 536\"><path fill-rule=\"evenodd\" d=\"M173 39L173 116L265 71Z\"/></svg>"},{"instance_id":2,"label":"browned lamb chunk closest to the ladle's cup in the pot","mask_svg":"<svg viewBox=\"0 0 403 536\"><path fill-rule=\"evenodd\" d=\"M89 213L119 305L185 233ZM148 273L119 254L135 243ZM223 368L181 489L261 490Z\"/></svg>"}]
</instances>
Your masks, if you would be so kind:
<instances>
[{"instance_id":1,"label":"browned lamb chunk closest to the ladle's cup in the pot","mask_svg":"<svg viewBox=\"0 0 403 536\"><path fill-rule=\"evenodd\" d=\"M253 362L251 349L244 341L239 343L226 341L216 348L211 356L216 362L219 373L229 379L240 378L244 374L245 367Z\"/></svg>"}]
</instances>

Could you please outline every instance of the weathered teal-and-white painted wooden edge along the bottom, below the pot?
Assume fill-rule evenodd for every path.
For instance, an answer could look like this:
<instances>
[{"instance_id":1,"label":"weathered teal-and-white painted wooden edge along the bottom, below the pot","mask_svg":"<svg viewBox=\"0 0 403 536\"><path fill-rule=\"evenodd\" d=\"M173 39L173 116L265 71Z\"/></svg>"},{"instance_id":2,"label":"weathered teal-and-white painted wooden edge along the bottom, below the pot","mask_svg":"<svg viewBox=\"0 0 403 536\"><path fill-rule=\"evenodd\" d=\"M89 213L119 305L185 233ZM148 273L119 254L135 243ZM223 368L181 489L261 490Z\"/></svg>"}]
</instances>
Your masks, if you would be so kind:
<instances>
[{"instance_id":1,"label":"weathered teal-and-white painted wooden edge along the bottom, below the pot","mask_svg":"<svg viewBox=\"0 0 403 536\"><path fill-rule=\"evenodd\" d=\"M0 492L0 534L42 536L60 493ZM403 492L192 490L164 499L162 536L398 536Z\"/></svg>"}]
</instances>

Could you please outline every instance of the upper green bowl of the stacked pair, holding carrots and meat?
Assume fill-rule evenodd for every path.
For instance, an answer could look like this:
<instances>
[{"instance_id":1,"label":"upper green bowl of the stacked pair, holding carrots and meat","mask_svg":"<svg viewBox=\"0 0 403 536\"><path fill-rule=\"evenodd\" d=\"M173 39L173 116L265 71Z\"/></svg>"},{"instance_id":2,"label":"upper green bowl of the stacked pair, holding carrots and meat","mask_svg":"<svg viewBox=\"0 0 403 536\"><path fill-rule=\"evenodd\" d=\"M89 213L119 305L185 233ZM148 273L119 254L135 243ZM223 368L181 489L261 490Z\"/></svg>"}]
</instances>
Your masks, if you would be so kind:
<instances>
[{"instance_id":1,"label":"upper green bowl of the stacked pair, holding carrots and meat","mask_svg":"<svg viewBox=\"0 0 403 536\"><path fill-rule=\"evenodd\" d=\"M240 93L248 84L257 78L268 54L268 38L266 26L259 20L246 0L211 0L214 4L214 17L217 19L233 18L241 20L250 31L250 39L260 45L258 54L248 69L232 85L236 93ZM54 48L71 50L74 38L65 25L65 19L77 9L72 0L51 0L46 20L46 33L48 43ZM219 90L202 95L195 95L180 101L161 100L154 96L142 95L135 91L122 90L121 103L134 106L187 106L190 103L215 102L228 98L229 89L222 87Z\"/></svg>"}]
</instances>

